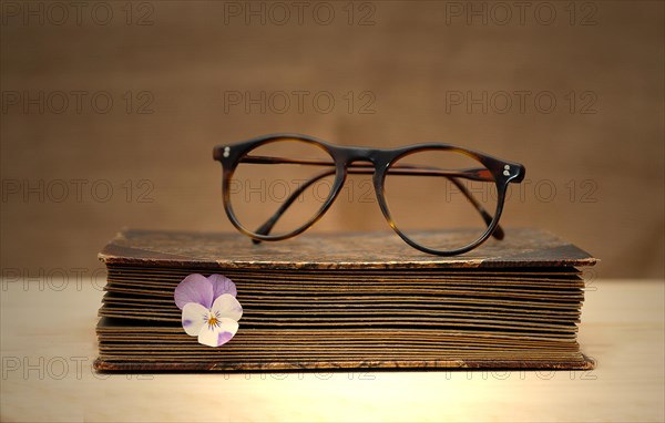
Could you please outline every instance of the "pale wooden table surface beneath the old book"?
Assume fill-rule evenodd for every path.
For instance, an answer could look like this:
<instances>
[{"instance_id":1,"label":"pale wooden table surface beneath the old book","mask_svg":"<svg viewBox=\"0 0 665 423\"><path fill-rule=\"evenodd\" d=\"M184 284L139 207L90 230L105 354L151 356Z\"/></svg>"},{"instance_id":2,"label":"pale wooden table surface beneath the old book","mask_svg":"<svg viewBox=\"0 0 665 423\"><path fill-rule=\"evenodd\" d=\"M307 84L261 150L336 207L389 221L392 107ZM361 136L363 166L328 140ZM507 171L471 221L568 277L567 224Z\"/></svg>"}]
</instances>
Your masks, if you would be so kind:
<instances>
[{"instance_id":1,"label":"pale wooden table surface beneath the old book","mask_svg":"<svg viewBox=\"0 0 665 423\"><path fill-rule=\"evenodd\" d=\"M654 421L664 415L664 283L590 285L587 372L96 374L102 292L3 281L2 421Z\"/></svg>"}]
</instances>

